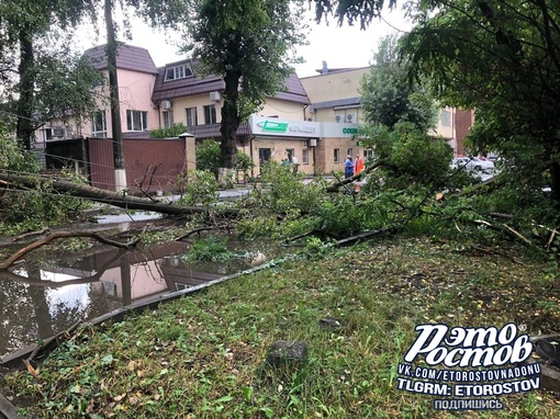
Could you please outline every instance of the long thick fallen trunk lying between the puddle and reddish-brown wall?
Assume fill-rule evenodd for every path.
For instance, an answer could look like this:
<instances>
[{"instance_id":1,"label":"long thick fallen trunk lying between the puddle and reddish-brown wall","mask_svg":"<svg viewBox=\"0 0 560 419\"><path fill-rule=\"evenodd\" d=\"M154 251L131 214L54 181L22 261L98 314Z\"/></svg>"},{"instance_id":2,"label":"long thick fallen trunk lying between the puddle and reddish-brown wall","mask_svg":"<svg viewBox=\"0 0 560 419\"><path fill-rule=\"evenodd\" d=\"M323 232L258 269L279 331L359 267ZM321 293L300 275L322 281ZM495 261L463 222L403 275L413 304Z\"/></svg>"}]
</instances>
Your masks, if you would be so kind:
<instances>
[{"instance_id":1,"label":"long thick fallen trunk lying between the puddle and reddish-brown wall","mask_svg":"<svg viewBox=\"0 0 560 419\"><path fill-rule=\"evenodd\" d=\"M144 210L169 215L197 214L206 211L202 207L172 205L168 202L148 202L141 197L78 184L59 178L30 177L0 171L0 181L4 181L9 188L13 189L36 189L38 184L42 188L52 188L57 192L67 193L71 196L114 205L125 210ZM233 208L222 210L221 214L237 215L238 211Z\"/></svg>"}]
</instances>

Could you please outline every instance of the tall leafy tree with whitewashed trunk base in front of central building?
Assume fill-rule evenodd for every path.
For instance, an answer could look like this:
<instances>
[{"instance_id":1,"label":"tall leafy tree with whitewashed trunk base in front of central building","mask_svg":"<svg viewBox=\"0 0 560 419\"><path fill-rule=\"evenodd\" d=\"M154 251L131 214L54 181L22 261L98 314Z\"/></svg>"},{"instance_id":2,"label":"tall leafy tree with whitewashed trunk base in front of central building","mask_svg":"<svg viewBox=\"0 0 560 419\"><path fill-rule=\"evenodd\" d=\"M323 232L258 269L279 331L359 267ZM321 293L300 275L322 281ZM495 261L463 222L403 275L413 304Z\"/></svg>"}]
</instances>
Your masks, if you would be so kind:
<instances>
[{"instance_id":1,"label":"tall leafy tree with whitewashed trunk base in front of central building","mask_svg":"<svg viewBox=\"0 0 560 419\"><path fill-rule=\"evenodd\" d=\"M192 57L202 75L223 78L220 181L236 167L236 132L293 71L293 47L302 44L301 13L289 0L199 0L189 29Z\"/></svg>"}]
</instances>

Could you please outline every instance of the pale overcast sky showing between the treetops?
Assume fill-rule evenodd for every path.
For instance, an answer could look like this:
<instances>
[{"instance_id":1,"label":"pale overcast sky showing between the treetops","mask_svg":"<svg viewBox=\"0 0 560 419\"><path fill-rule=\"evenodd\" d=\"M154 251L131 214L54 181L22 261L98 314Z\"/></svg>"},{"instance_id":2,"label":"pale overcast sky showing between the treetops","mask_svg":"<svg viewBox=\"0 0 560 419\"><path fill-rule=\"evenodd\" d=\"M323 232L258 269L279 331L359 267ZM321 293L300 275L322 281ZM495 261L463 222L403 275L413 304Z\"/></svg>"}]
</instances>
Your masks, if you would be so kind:
<instances>
[{"instance_id":1,"label":"pale overcast sky showing between the treetops","mask_svg":"<svg viewBox=\"0 0 560 419\"><path fill-rule=\"evenodd\" d=\"M311 13L309 19L312 19ZM340 27L334 22L329 25L316 24L312 20L310 26L310 44L298 49L299 55L305 59L304 64L295 66L295 72L300 77L316 75L315 70L322 68L323 60L328 68L366 67L371 63L381 37L410 30L411 24L404 20L400 10L394 10L385 11L383 19L374 20L366 31L347 24ZM105 43L102 34L96 38L91 30L83 30L81 33L81 41L77 46L82 49ZM177 39L177 35L154 31L139 20L133 20L132 35L132 41L126 43L148 49L158 67L186 57L178 55L177 47L169 43L169 38Z\"/></svg>"}]
</instances>

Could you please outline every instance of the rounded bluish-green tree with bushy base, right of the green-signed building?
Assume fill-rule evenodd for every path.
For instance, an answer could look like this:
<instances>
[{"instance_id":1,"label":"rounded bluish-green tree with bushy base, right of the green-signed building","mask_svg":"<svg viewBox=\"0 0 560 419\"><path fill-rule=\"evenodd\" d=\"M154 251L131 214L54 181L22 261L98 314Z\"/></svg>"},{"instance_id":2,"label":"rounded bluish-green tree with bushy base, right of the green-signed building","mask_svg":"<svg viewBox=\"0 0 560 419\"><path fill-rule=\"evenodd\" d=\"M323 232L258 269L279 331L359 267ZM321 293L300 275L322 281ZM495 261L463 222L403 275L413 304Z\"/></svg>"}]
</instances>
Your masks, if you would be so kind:
<instances>
[{"instance_id":1,"label":"rounded bluish-green tree with bushy base, right of the green-signed building","mask_svg":"<svg viewBox=\"0 0 560 419\"><path fill-rule=\"evenodd\" d=\"M445 139L428 135L436 126L436 101L426 87L411 82L408 66L399 37L385 36L361 82L363 141L380 166L370 181L383 191L440 185L452 156Z\"/></svg>"}]
</instances>

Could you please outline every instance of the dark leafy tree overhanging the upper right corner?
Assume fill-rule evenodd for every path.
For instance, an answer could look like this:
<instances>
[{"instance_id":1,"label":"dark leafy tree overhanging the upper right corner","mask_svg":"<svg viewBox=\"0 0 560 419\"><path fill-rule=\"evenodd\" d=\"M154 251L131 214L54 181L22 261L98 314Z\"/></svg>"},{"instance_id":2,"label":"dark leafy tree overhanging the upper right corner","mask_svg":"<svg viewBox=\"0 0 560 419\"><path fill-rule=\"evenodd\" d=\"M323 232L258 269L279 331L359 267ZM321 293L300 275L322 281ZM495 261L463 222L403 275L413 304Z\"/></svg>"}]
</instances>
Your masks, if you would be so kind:
<instances>
[{"instance_id":1,"label":"dark leafy tree overhanging the upper right corner","mask_svg":"<svg viewBox=\"0 0 560 419\"><path fill-rule=\"evenodd\" d=\"M559 201L560 3L448 0L417 8L418 25L405 37L415 73L430 77L441 100L475 110L475 151L499 151L525 179L547 181Z\"/></svg>"}]
</instances>

